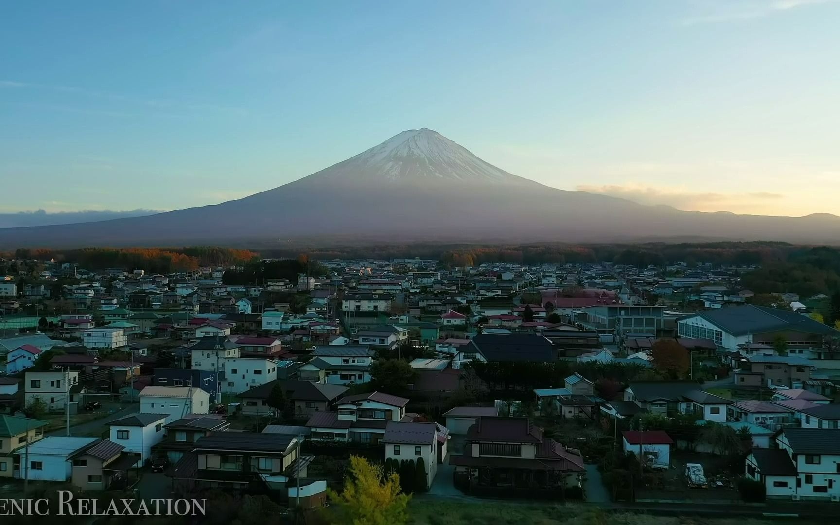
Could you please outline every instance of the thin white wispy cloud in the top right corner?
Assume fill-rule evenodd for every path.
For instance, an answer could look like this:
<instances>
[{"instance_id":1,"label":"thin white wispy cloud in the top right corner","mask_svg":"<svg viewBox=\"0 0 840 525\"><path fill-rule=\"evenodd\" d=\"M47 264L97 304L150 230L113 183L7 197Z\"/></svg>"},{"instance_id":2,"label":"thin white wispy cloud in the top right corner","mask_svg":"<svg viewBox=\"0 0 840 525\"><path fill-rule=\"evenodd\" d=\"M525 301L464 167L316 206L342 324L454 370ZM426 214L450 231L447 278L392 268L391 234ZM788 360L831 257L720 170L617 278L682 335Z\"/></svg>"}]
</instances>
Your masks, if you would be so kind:
<instances>
[{"instance_id":1,"label":"thin white wispy cloud in the top right corner","mask_svg":"<svg viewBox=\"0 0 840 525\"><path fill-rule=\"evenodd\" d=\"M697 13L680 21L682 25L716 24L764 18L837 0L711 0L696 3Z\"/></svg>"}]
</instances>

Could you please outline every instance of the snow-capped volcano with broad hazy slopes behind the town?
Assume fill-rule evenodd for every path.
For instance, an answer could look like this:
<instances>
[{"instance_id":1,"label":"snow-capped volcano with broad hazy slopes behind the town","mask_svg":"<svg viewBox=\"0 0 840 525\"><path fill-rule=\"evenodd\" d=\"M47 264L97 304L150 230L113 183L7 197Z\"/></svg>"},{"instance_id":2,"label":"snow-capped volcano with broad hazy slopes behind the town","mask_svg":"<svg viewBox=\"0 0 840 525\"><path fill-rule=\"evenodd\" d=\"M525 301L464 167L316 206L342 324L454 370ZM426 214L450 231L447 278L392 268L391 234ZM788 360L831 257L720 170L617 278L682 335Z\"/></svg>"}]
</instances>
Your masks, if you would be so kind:
<instances>
[{"instance_id":1,"label":"snow-capped volcano with broad hazy slopes behind the town","mask_svg":"<svg viewBox=\"0 0 840 525\"><path fill-rule=\"evenodd\" d=\"M840 244L840 218L682 212L567 192L512 175L424 128L249 197L145 217L4 228L0 248L698 238Z\"/></svg>"}]
</instances>

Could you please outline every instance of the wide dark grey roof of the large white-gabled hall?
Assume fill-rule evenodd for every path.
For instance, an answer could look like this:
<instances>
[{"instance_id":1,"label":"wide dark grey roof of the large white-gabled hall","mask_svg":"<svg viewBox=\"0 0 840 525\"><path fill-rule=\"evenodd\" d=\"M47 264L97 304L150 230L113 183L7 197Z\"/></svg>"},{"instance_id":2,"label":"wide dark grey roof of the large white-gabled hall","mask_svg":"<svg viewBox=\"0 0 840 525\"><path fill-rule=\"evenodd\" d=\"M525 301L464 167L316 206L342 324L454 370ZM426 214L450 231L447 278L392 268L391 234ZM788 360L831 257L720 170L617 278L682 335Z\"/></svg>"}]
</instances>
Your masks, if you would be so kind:
<instances>
[{"instance_id":1,"label":"wide dark grey roof of the large white-gabled hall","mask_svg":"<svg viewBox=\"0 0 840 525\"><path fill-rule=\"evenodd\" d=\"M764 333L776 330L795 330L797 332L818 333L821 335L840 335L840 331L818 323L806 315L777 308L759 307L748 304L741 307L720 308L697 312L709 323L716 325L732 335Z\"/></svg>"}]
</instances>

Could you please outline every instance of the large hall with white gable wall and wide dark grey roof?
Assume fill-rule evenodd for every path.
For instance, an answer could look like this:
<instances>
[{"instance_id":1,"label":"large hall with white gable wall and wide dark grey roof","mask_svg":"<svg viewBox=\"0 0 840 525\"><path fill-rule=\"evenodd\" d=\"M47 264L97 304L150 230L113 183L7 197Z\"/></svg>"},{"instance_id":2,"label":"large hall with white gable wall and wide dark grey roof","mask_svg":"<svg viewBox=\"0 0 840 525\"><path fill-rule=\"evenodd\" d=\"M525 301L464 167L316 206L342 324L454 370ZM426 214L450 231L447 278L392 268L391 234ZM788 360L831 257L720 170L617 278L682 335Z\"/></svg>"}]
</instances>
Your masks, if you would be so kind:
<instances>
[{"instance_id":1,"label":"large hall with white gable wall and wide dark grey roof","mask_svg":"<svg viewBox=\"0 0 840 525\"><path fill-rule=\"evenodd\" d=\"M697 312L677 321L680 337L711 339L719 351L738 351L742 344L774 344L785 339L791 357L824 359L822 340L840 331L807 315L748 304Z\"/></svg>"}]
</instances>

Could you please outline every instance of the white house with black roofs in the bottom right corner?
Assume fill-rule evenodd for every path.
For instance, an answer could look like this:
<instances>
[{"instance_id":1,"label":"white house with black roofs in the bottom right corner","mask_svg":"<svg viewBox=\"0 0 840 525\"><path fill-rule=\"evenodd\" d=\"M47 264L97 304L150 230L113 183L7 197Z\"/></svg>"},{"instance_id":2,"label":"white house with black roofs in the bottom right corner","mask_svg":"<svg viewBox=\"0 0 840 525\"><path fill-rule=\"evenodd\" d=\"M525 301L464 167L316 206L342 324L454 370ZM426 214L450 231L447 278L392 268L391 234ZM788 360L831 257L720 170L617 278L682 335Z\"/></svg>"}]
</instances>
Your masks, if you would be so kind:
<instances>
[{"instance_id":1,"label":"white house with black roofs in the bottom right corner","mask_svg":"<svg viewBox=\"0 0 840 525\"><path fill-rule=\"evenodd\" d=\"M764 482L768 497L832 500L840 496L840 429L785 428L778 449L753 449L748 478Z\"/></svg>"}]
</instances>

